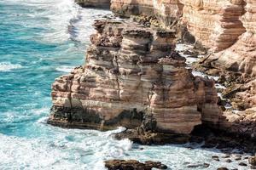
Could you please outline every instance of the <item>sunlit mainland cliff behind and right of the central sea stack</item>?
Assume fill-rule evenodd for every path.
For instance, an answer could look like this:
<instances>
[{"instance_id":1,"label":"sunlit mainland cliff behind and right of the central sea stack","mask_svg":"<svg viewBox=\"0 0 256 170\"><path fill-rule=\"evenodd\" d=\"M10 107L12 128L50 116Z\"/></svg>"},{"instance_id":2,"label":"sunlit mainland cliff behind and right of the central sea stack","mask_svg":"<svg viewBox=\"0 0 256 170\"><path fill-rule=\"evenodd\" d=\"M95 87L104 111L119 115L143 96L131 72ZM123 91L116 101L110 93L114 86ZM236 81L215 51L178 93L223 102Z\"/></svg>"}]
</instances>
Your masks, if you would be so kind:
<instances>
[{"instance_id":1,"label":"sunlit mainland cliff behind and right of the central sea stack","mask_svg":"<svg viewBox=\"0 0 256 170\"><path fill-rule=\"evenodd\" d=\"M168 22L162 21L167 25L166 28L168 25L173 27L176 23L186 26L189 34L195 37L195 44L209 49L208 55L199 63L205 67L202 71L214 73L215 76L221 75L220 82L231 91L227 100L239 111L234 114L233 111L224 109L217 128L253 138L256 135L255 8L255 0L180 0L147 3L139 0L136 3L112 0L115 14L156 15L161 21L167 19ZM170 18L178 22L169 22Z\"/></svg>"}]
</instances>

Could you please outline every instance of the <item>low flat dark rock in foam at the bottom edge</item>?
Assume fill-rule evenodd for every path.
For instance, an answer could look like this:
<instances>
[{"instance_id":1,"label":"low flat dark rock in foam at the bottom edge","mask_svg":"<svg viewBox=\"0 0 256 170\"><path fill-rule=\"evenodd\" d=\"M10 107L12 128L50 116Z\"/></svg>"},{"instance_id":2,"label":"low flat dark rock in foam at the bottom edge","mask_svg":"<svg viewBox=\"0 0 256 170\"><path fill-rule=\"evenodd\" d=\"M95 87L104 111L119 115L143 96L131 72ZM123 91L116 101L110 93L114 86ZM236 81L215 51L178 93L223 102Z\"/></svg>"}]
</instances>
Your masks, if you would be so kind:
<instances>
[{"instance_id":1,"label":"low flat dark rock in foam at the bottom edge","mask_svg":"<svg viewBox=\"0 0 256 170\"><path fill-rule=\"evenodd\" d=\"M110 160L105 161L108 170L151 170L152 168L167 169L167 166L159 161L145 161L144 163L136 160Z\"/></svg>"}]
</instances>

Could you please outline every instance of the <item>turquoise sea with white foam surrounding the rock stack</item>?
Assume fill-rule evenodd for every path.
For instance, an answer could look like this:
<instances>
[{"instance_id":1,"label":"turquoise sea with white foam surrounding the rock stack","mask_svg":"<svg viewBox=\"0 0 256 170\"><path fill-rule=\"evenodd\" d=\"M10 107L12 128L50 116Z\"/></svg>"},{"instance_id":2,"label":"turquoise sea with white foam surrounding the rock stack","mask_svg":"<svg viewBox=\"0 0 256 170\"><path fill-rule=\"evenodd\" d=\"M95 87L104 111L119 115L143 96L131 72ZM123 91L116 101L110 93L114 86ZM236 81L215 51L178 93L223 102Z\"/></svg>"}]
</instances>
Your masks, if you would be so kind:
<instances>
[{"instance_id":1,"label":"turquoise sea with white foam surrounding the rock stack","mask_svg":"<svg viewBox=\"0 0 256 170\"><path fill-rule=\"evenodd\" d=\"M91 24L104 14L110 12L73 0L0 0L0 169L101 170L114 158L162 161L175 170L202 163L247 169L213 161L224 154L199 144L144 146L113 139L121 127L98 132L46 124L51 83L83 65Z\"/></svg>"}]
</instances>

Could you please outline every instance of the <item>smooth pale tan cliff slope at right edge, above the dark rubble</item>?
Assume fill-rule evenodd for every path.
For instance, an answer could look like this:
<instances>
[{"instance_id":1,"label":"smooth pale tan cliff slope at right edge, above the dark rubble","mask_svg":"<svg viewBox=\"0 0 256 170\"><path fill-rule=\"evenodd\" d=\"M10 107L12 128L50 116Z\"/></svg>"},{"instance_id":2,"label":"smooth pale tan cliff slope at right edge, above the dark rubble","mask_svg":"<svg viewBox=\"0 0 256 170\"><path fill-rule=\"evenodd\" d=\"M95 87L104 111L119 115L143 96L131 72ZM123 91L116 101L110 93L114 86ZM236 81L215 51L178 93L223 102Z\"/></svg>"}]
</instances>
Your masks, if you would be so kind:
<instances>
[{"instance_id":1,"label":"smooth pale tan cliff slope at right edge, above the dark rubble","mask_svg":"<svg viewBox=\"0 0 256 170\"><path fill-rule=\"evenodd\" d=\"M213 54L207 62L213 67L229 71L241 71L256 76L256 1L247 0L246 13L241 17L246 32L230 48Z\"/></svg>"}]
</instances>

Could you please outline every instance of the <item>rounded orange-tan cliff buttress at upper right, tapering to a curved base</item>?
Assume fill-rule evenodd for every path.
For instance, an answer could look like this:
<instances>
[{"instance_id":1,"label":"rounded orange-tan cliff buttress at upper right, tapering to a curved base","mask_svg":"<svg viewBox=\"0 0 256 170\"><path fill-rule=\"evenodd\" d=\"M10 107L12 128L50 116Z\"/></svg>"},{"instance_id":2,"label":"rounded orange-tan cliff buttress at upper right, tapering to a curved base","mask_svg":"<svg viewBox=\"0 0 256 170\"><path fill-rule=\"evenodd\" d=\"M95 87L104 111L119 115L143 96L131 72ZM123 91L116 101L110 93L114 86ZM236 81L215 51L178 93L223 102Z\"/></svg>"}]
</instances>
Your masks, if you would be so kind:
<instances>
[{"instance_id":1,"label":"rounded orange-tan cliff buttress at upper right, tapering to a curved base","mask_svg":"<svg viewBox=\"0 0 256 170\"><path fill-rule=\"evenodd\" d=\"M190 33L213 52L229 48L245 31L239 18L242 0L180 0L184 4L183 20Z\"/></svg>"}]
</instances>

